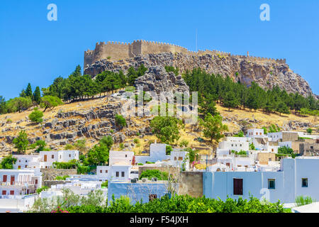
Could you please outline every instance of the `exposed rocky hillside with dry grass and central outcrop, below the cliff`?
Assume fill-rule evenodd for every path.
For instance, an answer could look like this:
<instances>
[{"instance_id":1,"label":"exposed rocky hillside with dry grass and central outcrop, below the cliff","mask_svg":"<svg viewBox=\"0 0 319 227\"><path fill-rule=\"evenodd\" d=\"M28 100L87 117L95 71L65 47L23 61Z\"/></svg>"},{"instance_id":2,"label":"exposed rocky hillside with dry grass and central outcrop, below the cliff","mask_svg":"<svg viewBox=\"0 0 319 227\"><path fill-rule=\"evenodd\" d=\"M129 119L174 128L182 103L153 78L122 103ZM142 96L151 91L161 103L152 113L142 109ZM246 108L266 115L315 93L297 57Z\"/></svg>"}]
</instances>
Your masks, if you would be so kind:
<instances>
[{"instance_id":1,"label":"exposed rocky hillside with dry grass and central outcrop, below the cliff","mask_svg":"<svg viewBox=\"0 0 319 227\"><path fill-rule=\"evenodd\" d=\"M162 66L151 66L150 58L146 58L146 60L140 58L141 62L145 63L149 70L135 81L135 86L142 86L145 90L155 90L158 93L163 91L184 92L189 89L180 75L176 76L172 72L167 73ZM106 62L107 64L116 66L112 62ZM28 133L30 143L35 143L36 140L45 140L52 150L60 150L65 145L73 144L76 140L84 138L87 141L87 147L91 148L98 143L103 135L113 137L115 142L113 149L119 149L119 144L123 143L125 150L134 150L135 153L140 154L142 151L148 150L150 143L156 140L150 128L152 117L127 117L128 127L123 129L116 127L115 116L122 114L121 108L126 101L123 96L118 95L123 92L117 91L114 94L96 96L94 99L57 106L52 111L45 111L44 121L41 124L32 123L28 119L32 110L1 115L0 155L6 155L14 150L13 138L16 138L21 130ZM263 114L261 111L250 112L238 109L228 111L222 106L217 106L217 108L223 116L224 123L230 129L226 135L233 135L240 130L245 132L247 128L269 127L272 124L289 131L306 131L306 128L309 127L319 127L317 118L314 116L301 117L293 114L279 116L278 114ZM194 140L198 136L202 136L198 125L186 125L181 129L180 140L188 140L189 145L193 148L210 150L211 145L208 143L199 143ZM139 138L140 143L134 143L135 138Z\"/></svg>"}]
</instances>

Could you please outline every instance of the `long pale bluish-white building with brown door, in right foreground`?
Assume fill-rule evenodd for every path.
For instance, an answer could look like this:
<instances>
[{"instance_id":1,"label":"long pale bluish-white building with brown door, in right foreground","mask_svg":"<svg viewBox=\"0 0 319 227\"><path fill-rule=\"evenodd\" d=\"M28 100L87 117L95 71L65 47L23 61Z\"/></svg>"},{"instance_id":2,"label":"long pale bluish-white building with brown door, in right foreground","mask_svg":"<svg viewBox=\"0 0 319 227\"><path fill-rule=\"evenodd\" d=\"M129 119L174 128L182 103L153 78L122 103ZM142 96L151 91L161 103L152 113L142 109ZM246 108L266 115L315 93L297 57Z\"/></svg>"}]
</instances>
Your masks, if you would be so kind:
<instances>
[{"instance_id":1,"label":"long pale bluish-white building with brown door, in right foreground","mask_svg":"<svg viewBox=\"0 0 319 227\"><path fill-rule=\"evenodd\" d=\"M293 203L296 196L319 199L319 159L284 158L279 171L204 172L203 194L222 200L227 196L249 199L250 195L270 202Z\"/></svg>"}]
</instances>

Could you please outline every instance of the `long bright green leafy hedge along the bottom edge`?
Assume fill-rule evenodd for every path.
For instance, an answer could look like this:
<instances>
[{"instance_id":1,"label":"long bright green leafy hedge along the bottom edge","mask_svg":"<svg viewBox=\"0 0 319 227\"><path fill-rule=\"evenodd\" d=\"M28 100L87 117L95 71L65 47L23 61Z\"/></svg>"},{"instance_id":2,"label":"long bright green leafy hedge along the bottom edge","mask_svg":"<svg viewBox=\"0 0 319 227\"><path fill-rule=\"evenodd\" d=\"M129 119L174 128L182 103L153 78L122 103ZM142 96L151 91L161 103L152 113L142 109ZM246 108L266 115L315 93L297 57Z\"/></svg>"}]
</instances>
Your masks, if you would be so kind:
<instances>
[{"instance_id":1,"label":"long bright green leafy hedge along the bottom edge","mask_svg":"<svg viewBox=\"0 0 319 227\"><path fill-rule=\"evenodd\" d=\"M109 206L69 206L70 213L284 213L280 202L264 204L259 199L209 199L189 195L162 196L147 203L132 204L126 196L112 197Z\"/></svg>"}]
</instances>

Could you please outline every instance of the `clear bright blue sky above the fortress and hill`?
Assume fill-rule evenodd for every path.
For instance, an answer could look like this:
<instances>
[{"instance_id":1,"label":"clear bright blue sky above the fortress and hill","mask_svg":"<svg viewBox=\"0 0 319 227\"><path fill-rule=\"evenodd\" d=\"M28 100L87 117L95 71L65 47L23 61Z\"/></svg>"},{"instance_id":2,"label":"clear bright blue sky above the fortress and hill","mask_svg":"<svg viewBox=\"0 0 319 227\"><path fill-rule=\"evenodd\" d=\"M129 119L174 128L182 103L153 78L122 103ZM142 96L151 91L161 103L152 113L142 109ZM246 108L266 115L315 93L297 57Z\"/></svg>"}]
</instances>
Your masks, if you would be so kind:
<instances>
[{"instance_id":1,"label":"clear bright blue sky above the fortress and hill","mask_svg":"<svg viewBox=\"0 0 319 227\"><path fill-rule=\"evenodd\" d=\"M48 4L57 21L47 21ZM261 21L259 6L270 6ZM286 58L319 94L318 0L1 1L0 95L18 96L28 82L47 87L83 67L84 50L100 41L154 40L189 50Z\"/></svg>"}]
</instances>

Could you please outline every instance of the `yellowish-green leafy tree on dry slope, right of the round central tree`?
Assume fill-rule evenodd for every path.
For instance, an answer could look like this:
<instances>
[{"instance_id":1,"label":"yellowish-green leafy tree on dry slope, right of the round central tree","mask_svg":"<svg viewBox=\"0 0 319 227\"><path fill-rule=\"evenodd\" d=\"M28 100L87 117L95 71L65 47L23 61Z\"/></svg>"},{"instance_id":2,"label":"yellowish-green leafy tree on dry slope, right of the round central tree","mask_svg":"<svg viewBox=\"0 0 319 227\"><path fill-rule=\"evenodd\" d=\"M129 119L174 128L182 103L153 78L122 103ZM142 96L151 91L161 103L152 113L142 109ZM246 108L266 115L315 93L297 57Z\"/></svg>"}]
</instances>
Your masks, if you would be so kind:
<instances>
[{"instance_id":1,"label":"yellowish-green leafy tree on dry slope, right of the round central tree","mask_svg":"<svg viewBox=\"0 0 319 227\"><path fill-rule=\"evenodd\" d=\"M223 138L224 131L228 131L228 126L223 125L222 123L223 117L219 114L215 116L211 116L211 114L207 114L204 120L200 119L200 126L203 127L203 135L206 138L211 139L211 141L215 140L217 143L220 138Z\"/></svg>"}]
</instances>

